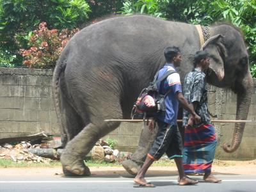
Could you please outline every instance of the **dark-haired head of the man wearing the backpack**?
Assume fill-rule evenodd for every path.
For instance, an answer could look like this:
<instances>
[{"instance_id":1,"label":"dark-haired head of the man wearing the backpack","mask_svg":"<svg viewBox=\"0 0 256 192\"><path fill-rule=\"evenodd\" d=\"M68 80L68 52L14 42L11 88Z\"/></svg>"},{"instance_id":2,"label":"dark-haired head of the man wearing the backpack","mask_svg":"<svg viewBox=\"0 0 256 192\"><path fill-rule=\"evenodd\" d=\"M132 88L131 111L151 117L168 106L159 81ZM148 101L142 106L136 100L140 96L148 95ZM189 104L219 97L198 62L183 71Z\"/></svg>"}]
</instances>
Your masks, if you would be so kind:
<instances>
[{"instance_id":1,"label":"dark-haired head of the man wearing the backpack","mask_svg":"<svg viewBox=\"0 0 256 192\"><path fill-rule=\"evenodd\" d=\"M164 49L164 57L167 63L173 63L175 67L180 66L181 54L179 47L166 47Z\"/></svg>"}]
</instances>

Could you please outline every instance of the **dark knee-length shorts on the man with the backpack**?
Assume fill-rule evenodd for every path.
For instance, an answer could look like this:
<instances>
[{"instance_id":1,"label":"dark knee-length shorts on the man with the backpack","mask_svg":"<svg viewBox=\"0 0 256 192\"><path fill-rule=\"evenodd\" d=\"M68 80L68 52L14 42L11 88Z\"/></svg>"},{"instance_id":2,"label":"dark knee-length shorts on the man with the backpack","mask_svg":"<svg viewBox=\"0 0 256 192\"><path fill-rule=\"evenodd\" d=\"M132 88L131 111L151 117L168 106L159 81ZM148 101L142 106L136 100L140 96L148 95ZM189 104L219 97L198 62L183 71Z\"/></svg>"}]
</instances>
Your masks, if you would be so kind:
<instances>
[{"instance_id":1,"label":"dark knee-length shorts on the man with the backpack","mask_svg":"<svg viewBox=\"0 0 256 192\"><path fill-rule=\"evenodd\" d=\"M157 124L159 129L148 157L158 160L164 152L170 159L182 157L182 138L177 125L166 124L160 120L157 120Z\"/></svg>"}]
</instances>

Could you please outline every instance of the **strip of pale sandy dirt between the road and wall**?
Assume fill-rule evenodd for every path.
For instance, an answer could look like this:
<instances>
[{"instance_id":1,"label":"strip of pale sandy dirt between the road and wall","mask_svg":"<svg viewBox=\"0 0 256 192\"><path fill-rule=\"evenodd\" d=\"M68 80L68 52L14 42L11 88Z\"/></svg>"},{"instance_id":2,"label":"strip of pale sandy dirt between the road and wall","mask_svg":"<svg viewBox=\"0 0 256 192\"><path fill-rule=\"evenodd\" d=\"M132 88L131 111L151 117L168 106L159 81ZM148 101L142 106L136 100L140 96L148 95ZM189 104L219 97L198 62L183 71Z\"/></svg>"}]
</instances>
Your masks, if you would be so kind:
<instances>
[{"instance_id":1,"label":"strip of pale sandy dirt between the road and wall","mask_svg":"<svg viewBox=\"0 0 256 192\"><path fill-rule=\"evenodd\" d=\"M122 167L90 167L93 175L129 175ZM256 174L256 160L253 161L216 161L212 172L221 175ZM1 175L62 175L61 167L54 168L0 168ZM177 168L171 166L152 166L147 174L177 175Z\"/></svg>"}]
</instances>

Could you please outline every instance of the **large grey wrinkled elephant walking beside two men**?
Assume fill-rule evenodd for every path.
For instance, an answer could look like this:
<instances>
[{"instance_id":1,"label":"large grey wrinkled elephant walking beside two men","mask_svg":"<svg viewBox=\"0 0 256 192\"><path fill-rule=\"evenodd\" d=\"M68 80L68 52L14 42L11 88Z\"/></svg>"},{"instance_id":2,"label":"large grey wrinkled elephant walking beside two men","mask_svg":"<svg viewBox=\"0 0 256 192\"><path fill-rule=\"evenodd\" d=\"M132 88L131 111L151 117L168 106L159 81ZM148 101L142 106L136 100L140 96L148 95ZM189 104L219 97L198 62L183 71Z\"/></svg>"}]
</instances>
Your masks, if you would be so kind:
<instances>
[{"instance_id":1,"label":"large grey wrinkled elephant walking beside two men","mask_svg":"<svg viewBox=\"0 0 256 192\"><path fill-rule=\"evenodd\" d=\"M164 47L172 45L182 51L178 70L183 79L193 66L193 54L200 49L198 32L191 24L133 15L92 24L71 38L53 76L61 138L67 143L61 155L65 175L90 175L84 157L97 140L120 125L104 120L130 117L141 89L164 65ZM208 83L232 88L237 93L237 119L245 120L252 76L243 37L232 26L214 26L204 50L211 54ZM236 124L232 144L223 146L226 152L237 149L243 129L244 124ZM127 170L138 170L153 138L147 129L143 131Z\"/></svg>"}]
</instances>

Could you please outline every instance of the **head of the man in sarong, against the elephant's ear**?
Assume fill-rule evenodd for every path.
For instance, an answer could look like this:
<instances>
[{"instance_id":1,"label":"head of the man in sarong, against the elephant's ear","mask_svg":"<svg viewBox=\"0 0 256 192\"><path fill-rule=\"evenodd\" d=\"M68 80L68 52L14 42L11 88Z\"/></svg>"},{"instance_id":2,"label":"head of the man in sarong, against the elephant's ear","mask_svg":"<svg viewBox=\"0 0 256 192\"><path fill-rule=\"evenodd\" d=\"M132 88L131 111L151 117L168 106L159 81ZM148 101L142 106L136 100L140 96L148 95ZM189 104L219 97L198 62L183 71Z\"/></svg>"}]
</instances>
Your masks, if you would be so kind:
<instances>
[{"instance_id":1,"label":"head of the man in sarong, against the elephant's ear","mask_svg":"<svg viewBox=\"0 0 256 192\"><path fill-rule=\"evenodd\" d=\"M197 51L195 54L194 67L201 67L202 70L206 70L210 64L209 53L206 51Z\"/></svg>"}]
</instances>

